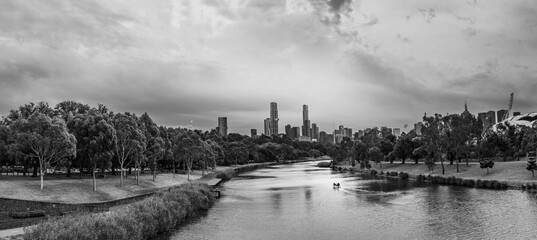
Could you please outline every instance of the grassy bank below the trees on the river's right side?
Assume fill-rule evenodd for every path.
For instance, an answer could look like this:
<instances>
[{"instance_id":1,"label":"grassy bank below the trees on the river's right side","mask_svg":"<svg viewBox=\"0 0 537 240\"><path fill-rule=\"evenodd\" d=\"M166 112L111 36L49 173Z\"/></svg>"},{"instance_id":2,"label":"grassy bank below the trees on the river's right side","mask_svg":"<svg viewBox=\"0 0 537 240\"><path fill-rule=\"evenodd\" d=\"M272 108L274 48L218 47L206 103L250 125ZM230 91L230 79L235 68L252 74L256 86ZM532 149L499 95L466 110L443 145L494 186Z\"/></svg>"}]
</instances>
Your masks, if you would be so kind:
<instances>
[{"instance_id":1,"label":"grassy bank below the trees on the river's right side","mask_svg":"<svg viewBox=\"0 0 537 240\"><path fill-rule=\"evenodd\" d=\"M442 174L442 167L440 163L436 163L433 171L429 170L423 163L415 164L413 162L401 163L382 163L382 165L373 165L371 170L380 172L396 172L406 173L409 178L417 179L421 176L438 176L442 178L458 178L462 180L473 180L477 183L477 180L498 181L503 182L509 189L526 189L527 185L537 184L537 176L532 177L531 171L526 170L527 161L513 161L513 162L495 162L494 167L489 169L488 173L486 169L480 168L479 163L459 163L459 172L457 172L457 166L454 163L444 163L445 173ZM350 170L350 166L341 166L344 169ZM358 167L354 167L355 171L361 171ZM371 171L370 171L371 172ZM475 184L475 187L477 184Z\"/></svg>"}]
</instances>

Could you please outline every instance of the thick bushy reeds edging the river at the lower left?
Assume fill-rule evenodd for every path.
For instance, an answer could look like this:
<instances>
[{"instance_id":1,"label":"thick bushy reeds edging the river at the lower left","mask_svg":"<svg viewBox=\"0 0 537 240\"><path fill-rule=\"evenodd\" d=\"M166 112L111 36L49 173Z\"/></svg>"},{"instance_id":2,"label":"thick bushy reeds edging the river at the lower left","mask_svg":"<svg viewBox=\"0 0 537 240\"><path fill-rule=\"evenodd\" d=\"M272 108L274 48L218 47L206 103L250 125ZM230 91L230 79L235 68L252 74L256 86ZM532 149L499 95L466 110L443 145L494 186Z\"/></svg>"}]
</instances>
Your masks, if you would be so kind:
<instances>
[{"instance_id":1,"label":"thick bushy reeds edging the river at the lower left","mask_svg":"<svg viewBox=\"0 0 537 240\"><path fill-rule=\"evenodd\" d=\"M214 203L207 184L187 183L114 211L50 219L24 239L153 239Z\"/></svg>"}]
</instances>

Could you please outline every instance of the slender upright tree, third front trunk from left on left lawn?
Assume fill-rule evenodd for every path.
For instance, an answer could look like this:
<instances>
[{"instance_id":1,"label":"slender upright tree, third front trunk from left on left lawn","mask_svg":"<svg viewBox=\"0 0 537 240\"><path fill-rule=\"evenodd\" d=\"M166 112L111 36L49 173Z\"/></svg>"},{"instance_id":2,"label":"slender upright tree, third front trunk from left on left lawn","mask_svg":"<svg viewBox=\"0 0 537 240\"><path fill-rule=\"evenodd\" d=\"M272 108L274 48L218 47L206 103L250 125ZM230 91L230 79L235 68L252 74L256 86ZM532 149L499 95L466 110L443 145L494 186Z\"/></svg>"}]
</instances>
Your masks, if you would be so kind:
<instances>
[{"instance_id":1,"label":"slender upright tree, third front trunk from left on left lawn","mask_svg":"<svg viewBox=\"0 0 537 240\"><path fill-rule=\"evenodd\" d=\"M136 116L125 113L115 114L113 125L116 129L116 158L120 167L120 184L123 187L123 173L126 165L144 151L145 136L138 127Z\"/></svg>"}]
</instances>

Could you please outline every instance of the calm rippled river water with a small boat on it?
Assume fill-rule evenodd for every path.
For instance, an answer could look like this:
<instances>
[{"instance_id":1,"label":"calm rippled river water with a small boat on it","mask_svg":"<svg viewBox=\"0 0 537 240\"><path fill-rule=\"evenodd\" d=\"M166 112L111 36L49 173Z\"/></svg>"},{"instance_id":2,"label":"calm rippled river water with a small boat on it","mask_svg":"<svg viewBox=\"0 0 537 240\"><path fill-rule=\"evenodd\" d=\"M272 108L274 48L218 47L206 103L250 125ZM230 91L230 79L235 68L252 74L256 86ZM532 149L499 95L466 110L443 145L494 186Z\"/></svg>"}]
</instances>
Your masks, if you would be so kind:
<instances>
[{"instance_id":1,"label":"calm rippled river water with a small boat on it","mask_svg":"<svg viewBox=\"0 0 537 240\"><path fill-rule=\"evenodd\" d=\"M207 216L170 239L537 239L534 194L371 179L315 165L241 174L221 186L223 197Z\"/></svg>"}]
</instances>

